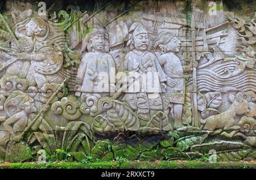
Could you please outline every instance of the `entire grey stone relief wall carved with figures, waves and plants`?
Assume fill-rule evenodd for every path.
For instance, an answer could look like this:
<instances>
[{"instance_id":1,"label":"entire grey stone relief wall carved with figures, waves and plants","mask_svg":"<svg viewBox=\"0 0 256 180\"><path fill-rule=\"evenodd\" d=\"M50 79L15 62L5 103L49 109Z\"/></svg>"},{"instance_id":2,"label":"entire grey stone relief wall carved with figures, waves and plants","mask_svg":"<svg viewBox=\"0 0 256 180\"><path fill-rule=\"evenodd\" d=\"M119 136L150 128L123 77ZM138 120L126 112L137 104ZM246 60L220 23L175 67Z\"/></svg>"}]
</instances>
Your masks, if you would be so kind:
<instances>
[{"instance_id":1,"label":"entire grey stone relief wall carved with figures, waves and plants","mask_svg":"<svg viewBox=\"0 0 256 180\"><path fill-rule=\"evenodd\" d=\"M0 5L0 160L255 160L254 2Z\"/></svg>"}]
</instances>

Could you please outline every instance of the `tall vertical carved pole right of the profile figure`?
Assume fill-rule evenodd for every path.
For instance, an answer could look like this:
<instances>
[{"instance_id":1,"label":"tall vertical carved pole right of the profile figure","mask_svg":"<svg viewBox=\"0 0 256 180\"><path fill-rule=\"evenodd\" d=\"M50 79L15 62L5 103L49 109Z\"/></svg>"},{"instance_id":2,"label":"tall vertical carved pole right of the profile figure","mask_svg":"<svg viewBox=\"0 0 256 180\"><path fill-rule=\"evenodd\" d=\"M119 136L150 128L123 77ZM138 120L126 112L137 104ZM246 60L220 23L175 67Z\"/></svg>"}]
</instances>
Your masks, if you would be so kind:
<instances>
[{"instance_id":1,"label":"tall vertical carved pole right of the profile figure","mask_svg":"<svg viewBox=\"0 0 256 180\"><path fill-rule=\"evenodd\" d=\"M196 22L195 16L191 16L191 38L192 38L192 61L196 61ZM198 114L197 114L197 82L196 82L196 67L193 67L193 96L192 96L192 104L193 104L193 118L192 125L198 127Z\"/></svg>"}]
</instances>

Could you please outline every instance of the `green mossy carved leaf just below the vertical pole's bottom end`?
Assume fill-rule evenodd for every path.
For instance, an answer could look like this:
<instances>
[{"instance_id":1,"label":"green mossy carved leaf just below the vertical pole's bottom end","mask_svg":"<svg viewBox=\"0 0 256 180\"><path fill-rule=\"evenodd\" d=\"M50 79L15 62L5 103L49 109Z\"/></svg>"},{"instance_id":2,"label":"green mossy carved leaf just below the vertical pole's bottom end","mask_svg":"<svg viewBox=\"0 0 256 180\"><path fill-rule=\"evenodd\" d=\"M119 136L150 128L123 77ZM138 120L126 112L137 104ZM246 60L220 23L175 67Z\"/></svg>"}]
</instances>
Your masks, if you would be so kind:
<instances>
[{"instance_id":1,"label":"green mossy carved leaf just below the vertical pole's bottom end","mask_svg":"<svg viewBox=\"0 0 256 180\"><path fill-rule=\"evenodd\" d=\"M203 141L208 137L209 132L200 132L198 135L191 135L181 137L180 139L176 140L177 148L181 150L187 150L192 145L201 144Z\"/></svg>"}]
</instances>

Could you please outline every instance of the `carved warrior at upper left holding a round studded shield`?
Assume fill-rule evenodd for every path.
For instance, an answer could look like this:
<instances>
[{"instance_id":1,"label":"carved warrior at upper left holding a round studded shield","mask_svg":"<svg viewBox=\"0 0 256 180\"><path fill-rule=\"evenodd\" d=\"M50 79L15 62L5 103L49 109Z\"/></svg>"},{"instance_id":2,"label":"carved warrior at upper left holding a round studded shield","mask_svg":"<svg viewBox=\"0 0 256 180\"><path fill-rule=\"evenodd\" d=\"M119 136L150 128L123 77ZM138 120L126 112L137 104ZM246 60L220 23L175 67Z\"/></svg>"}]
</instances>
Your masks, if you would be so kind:
<instances>
[{"instance_id":1,"label":"carved warrior at upper left holding a round studded shield","mask_svg":"<svg viewBox=\"0 0 256 180\"><path fill-rule=\"evenodd\" d=\"M43 19L35 17L28 18L15 27L17 37L26 37L31 42L32 52L22 53L22 60L31 61L26 77L30 85L38 85L40 89L44 83L61 83L63 79L57 72L63 64L63 54L57 43L47 40L48 24Z\"/></svg>"}]
</instances>

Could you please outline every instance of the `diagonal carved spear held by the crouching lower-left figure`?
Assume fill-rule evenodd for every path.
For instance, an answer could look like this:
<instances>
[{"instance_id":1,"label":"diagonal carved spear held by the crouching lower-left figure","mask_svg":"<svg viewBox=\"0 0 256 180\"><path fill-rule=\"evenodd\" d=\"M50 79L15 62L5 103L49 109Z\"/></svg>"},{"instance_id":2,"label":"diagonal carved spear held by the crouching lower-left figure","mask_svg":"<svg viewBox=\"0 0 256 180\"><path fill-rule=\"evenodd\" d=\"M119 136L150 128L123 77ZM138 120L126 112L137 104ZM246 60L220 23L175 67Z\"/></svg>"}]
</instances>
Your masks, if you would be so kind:
<instances>
[{"instance_id":1,"label":"diagonal carved spear held by the crouching lower-left figure","mask_svg":"<svg viewBox=\"0 0 256 180\"><path fill-rule=\"evenodd\" d=\"M69 76L67 78L64 79L64 81L59 85L58 89L52 94L52 96L47 100L46 104L44 104L44 106L48 106L48 104L52 101L53 98L55 98L55 96L60 93L61 90L63 90L64 86L68 83L69 81ZM33 124L35 124L36 120L38 120L39 116L44 116L44 112L43 112L43 108L39 111L39 113L35 116L35 118L32 120L32 122L30 124L28 124L28 126L24 129L24 131L22 132L22 134L20 135L20 137L23 137L26 132L32 127Z\"/></svg>"}]
</instances>

